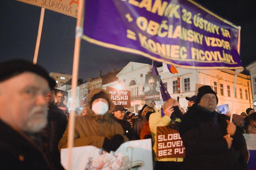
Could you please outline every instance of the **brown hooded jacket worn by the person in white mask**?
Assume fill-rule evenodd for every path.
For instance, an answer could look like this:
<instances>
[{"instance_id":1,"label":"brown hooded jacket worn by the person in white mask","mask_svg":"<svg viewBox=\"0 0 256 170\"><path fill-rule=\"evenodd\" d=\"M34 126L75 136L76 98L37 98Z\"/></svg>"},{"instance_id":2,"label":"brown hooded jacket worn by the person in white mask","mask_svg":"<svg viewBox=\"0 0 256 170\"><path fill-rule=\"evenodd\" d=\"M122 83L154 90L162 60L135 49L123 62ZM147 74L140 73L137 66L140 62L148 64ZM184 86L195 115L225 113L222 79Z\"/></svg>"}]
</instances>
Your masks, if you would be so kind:
<instances>
[{"instance_id":1,"label":"brown hooded jacket worn by the person in white mask","mask_svg":"<svg viewBox=\"0 0 256 170\"><path fill-rule=\"evenodd\" d=\"M104 115L96 115L92 111L92 98L101 91L105 93L104 98L108 101L109 109ZM111 139L116 134L120 134L124 137L124 143L128 141L121 125L110 118L110 114L113 110L114 104L111 102L111 97L108 92L104 89L93 89L86 100L87 114L76 118L74 147L92 145L97 148L102 148L104 138L107 137ZM59 149L67 148L67 142L68 126L60 139Z\"/></svg>"}]
</instances>

